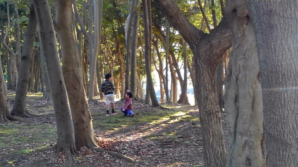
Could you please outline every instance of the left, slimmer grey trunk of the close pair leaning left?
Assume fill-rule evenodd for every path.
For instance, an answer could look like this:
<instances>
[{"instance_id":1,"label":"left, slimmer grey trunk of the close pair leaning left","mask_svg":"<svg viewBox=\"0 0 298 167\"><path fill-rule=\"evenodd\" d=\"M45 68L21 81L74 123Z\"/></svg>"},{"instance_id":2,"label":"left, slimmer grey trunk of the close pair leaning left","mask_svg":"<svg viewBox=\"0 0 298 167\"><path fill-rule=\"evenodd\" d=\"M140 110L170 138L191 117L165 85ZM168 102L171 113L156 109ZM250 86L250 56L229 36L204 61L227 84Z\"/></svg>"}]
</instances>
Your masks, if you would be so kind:
<instances>
[{"instance_id":1,"label":"left, slimmer grey trunk of the close pair leaning left","mask_svg":"<svg viewBox=\"0 0 298 167\"><path fill-rule=\"evenodd\" d=\"M52 23L51 10L47 0L33 0L33 4L38 19L38 27L40 30L41 50L43 50L46 70L48 72L49 82L53 98L53 107L55 110L57 122L58 141L56 144L57 151L63 151L69 155L72 162L71 154L76 153L74 126L72 123L72 115L69 107L69 101L66 92L66 86L63 79L62 69L57 51L56 37L54 26ZM71 2L68 6L70 7ZM61 16L59 7L66 4L60 4L56 1L57 20ZM67 17L67 15L63 15ZM60 28L60 22L58 27ZM73 39L74 40L74 39ZM72 163L70 164L72 165Z\"/></svg>"}]
</instances>

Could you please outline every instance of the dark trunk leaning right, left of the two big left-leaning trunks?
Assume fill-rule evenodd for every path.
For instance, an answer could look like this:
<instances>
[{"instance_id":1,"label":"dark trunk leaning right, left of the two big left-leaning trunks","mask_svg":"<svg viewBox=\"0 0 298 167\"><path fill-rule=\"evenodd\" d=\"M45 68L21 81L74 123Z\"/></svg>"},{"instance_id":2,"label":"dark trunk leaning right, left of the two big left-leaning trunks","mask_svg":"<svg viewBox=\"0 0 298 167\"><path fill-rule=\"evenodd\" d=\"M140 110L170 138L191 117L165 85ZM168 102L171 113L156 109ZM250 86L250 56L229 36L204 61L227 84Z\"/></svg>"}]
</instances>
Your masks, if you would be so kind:
<instances>
[{"instance_id":1,"label":"dark trunk leaning right, left of the two big left-leaning trunks","mask_svg":"<svg viewBox=\"0 0 298 167\"><path fill-rule=\"evenodd\" d=\"M30 6L29 21L25 33L25 41L23 51L21 54L20 75L18 77L18 85L15 91L15 102L13 105L12 115L25 116L32 118L26 111L26 95L27 86L29 83L29 73L32 61L33 44L37 29L37 19L34 11L33 4Z\"/></svg>"}]
</instances>

